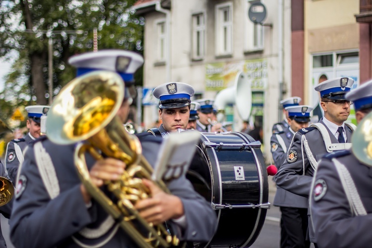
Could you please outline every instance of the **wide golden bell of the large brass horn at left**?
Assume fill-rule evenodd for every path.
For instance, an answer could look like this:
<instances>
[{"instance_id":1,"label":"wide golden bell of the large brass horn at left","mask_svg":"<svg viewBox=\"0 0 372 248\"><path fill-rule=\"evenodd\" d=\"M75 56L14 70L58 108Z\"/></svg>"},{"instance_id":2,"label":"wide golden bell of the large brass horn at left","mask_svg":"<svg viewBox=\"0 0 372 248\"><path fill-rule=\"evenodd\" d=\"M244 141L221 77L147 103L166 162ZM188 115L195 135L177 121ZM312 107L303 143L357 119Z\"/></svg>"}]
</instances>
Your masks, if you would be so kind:
<instances>
[{"instance_id":1,"label":"wide golden bell of the large brass horn at left","mask_svg":"<svg viewBox=\"0 0 372 248\"><path fill-rule=\"evenodd\" d=\"M123 99L124 82L117 73L98 70L73 79L48 112L49 139L58 144L88 139L110 123Z\"/></svg>"}]
</instances>

